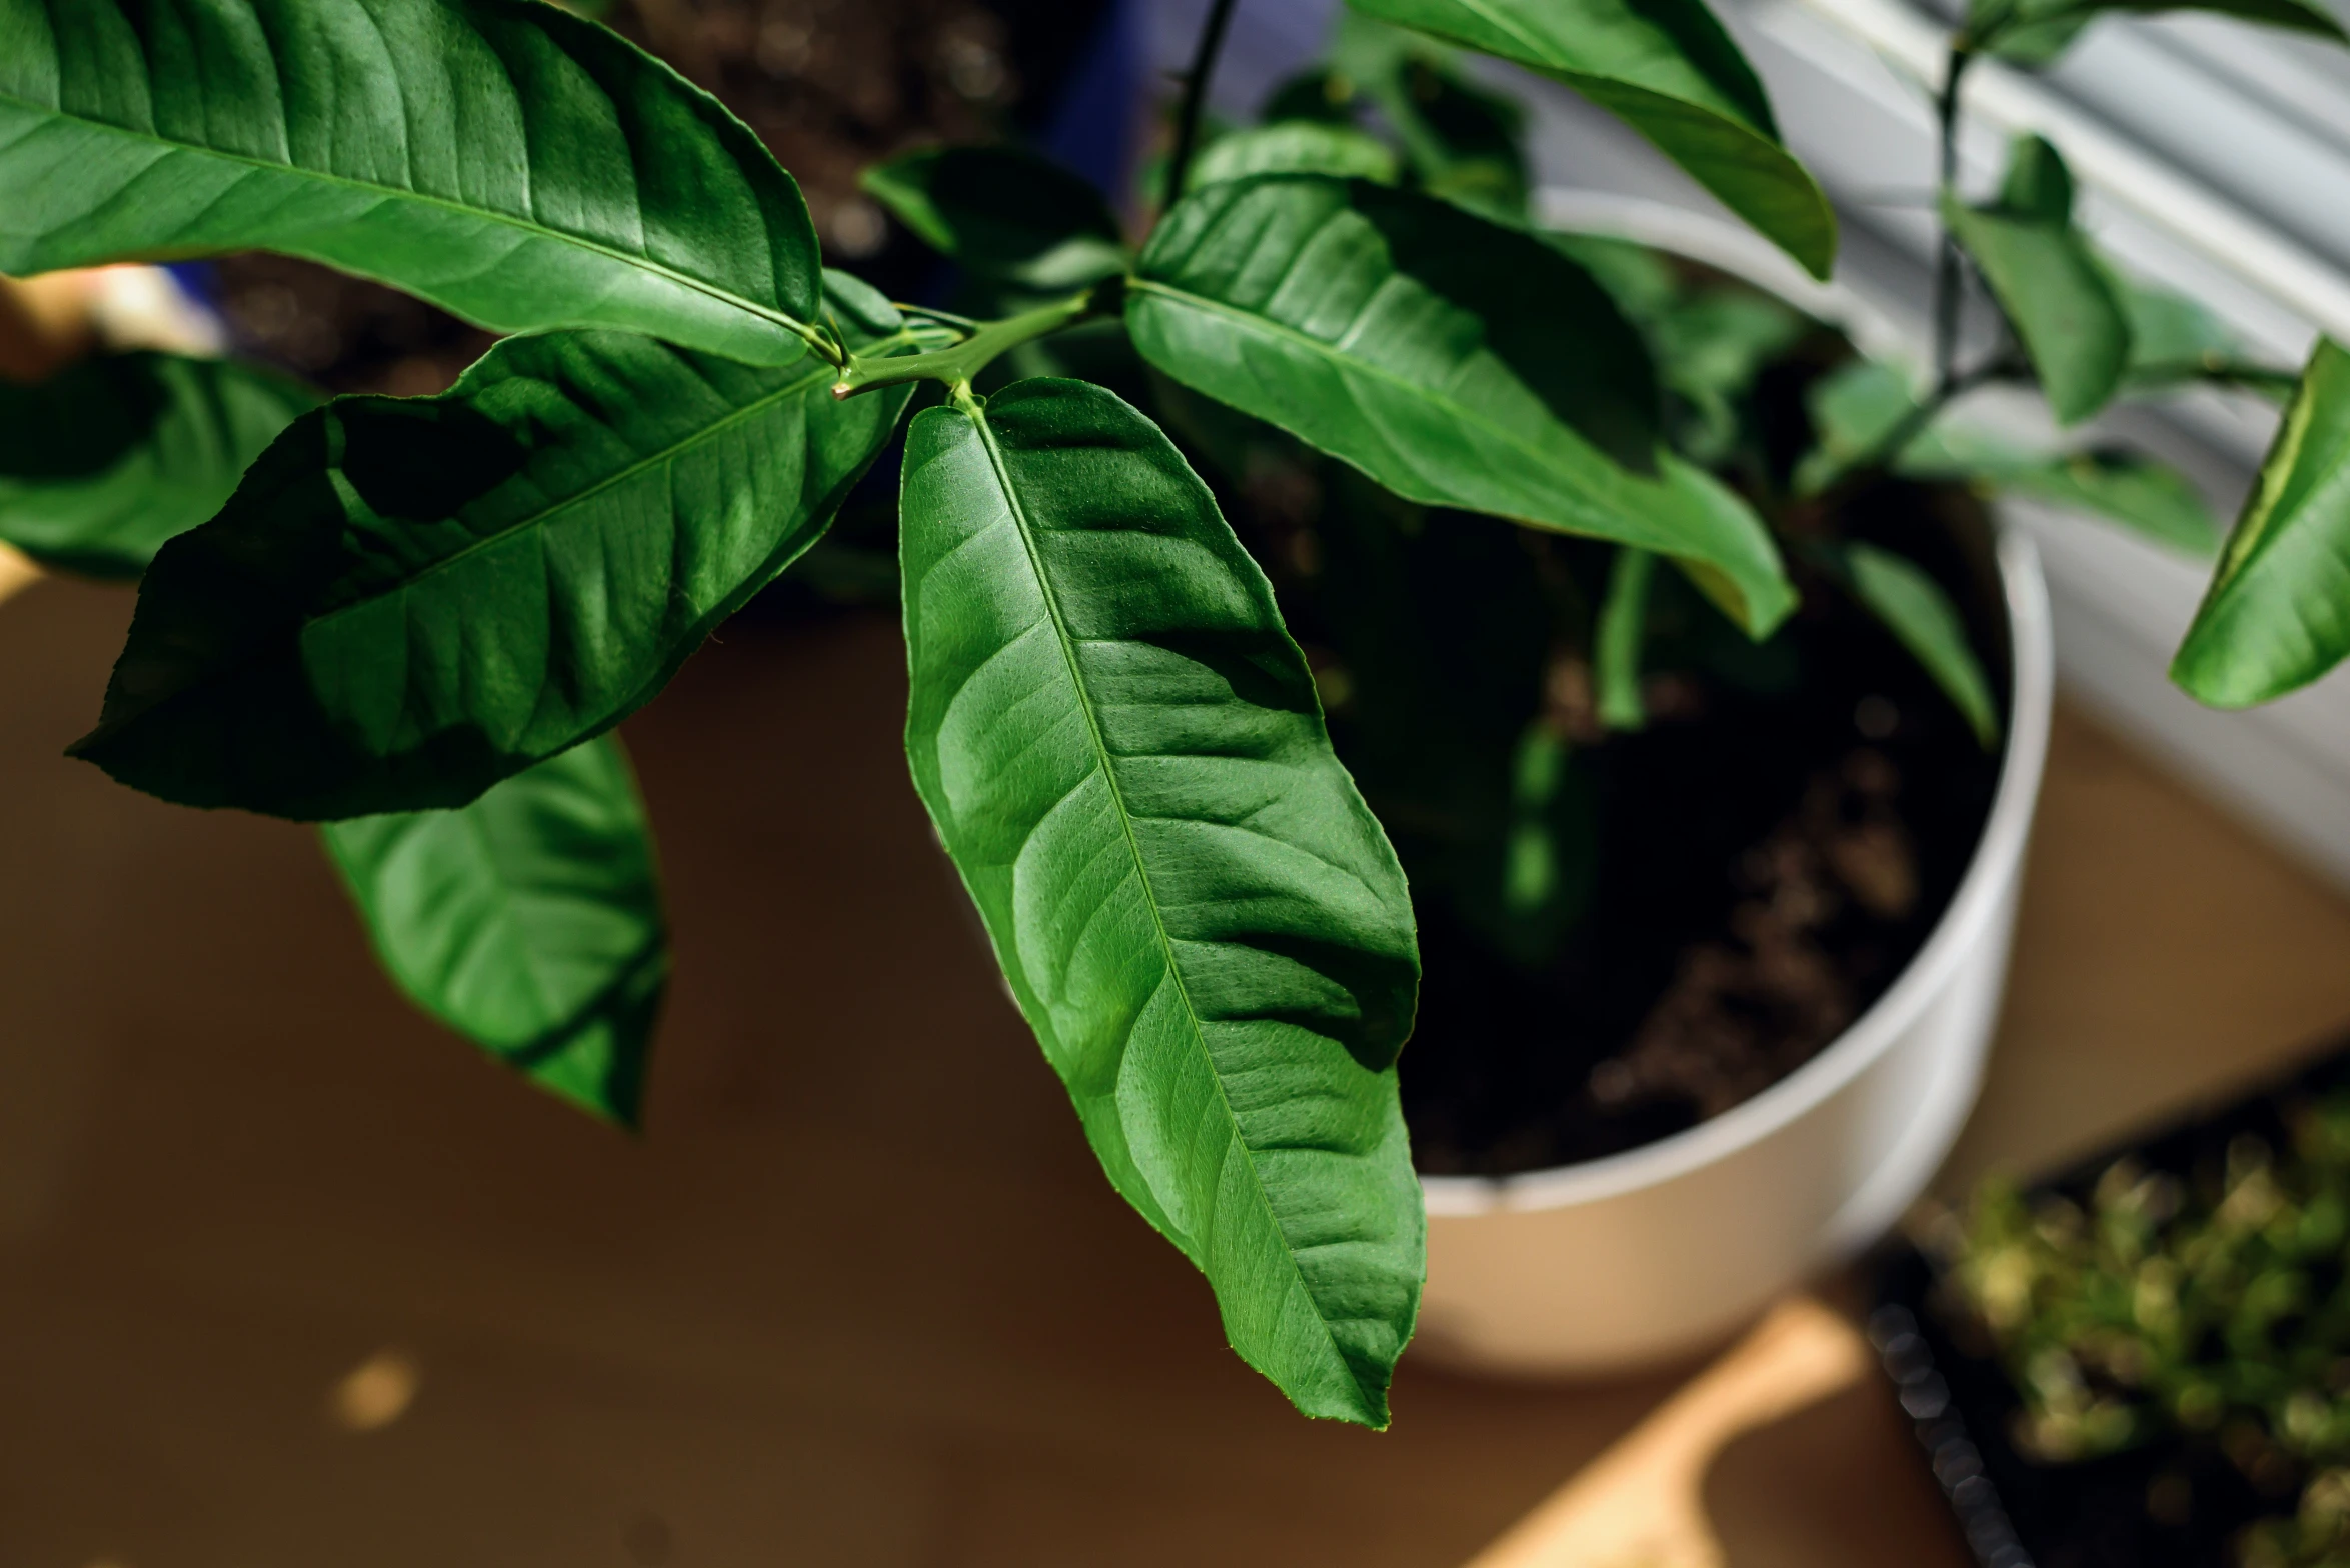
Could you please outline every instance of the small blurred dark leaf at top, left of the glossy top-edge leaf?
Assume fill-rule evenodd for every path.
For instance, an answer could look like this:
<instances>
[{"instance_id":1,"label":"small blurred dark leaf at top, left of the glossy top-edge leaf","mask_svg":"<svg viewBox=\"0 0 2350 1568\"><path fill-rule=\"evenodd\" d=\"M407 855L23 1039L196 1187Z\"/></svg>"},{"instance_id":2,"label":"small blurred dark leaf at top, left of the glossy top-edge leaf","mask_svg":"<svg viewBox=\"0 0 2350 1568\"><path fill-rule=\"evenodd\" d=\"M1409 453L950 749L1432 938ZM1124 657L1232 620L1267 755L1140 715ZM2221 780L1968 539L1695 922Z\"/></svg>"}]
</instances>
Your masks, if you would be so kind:
<instances>
[{"instance_id":1,"label":"small blurred dark leaf at top, left of the glossy top-edge leaf","mask_svg":"<svg viewBox=\"0 0 2350 1568\"><path fill-rule=\"evenodd\" d=\"M1525 108L1452 70L1448 54L1408 28L1340 12L1332 61L1403 138L1419 188L1523 225Z\"/></svg>"}]
</instances>

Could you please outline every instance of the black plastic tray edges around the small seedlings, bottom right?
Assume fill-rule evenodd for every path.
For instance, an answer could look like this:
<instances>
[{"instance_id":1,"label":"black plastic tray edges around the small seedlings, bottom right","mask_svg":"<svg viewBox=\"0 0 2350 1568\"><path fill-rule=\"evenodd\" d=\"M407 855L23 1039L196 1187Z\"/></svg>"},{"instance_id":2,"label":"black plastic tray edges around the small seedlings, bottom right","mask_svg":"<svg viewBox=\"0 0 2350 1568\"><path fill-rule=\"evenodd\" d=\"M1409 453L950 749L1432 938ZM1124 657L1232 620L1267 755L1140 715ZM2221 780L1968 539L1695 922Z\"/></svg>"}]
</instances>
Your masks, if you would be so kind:
<instances>
[{"instance_id":1,"label":"black plastic tray edges around the small seedlings, bottom right","mask_svg":"<svg viewBox=\"0 0 2350 1568\"><path fill-rule=\"evenodd\" d=\"M2338 1042L2209 1113L2082 1160L2028 1195L2087 1202L2096 1178L2122 1157L2176 1176L2216 1169L2242 1134L2284 1148L2287 1108L2345 1087L2350 1042ZM2247 1523L2294 1512L2298 1488L2263 1495L2200 1439L2066 1465L2019 1453L2009 1432L2023 1401L1990 1347L1974 1345L1969 1326L1939 1305L1939 1272L1915 1246L1887 1246L1878 1258L1868 1340L1983 1568L2232 1568L2230 1547ZM2160 1509L2157 1495L2188 1495L2193 1507Z\"/></svg>"}]
</instances>

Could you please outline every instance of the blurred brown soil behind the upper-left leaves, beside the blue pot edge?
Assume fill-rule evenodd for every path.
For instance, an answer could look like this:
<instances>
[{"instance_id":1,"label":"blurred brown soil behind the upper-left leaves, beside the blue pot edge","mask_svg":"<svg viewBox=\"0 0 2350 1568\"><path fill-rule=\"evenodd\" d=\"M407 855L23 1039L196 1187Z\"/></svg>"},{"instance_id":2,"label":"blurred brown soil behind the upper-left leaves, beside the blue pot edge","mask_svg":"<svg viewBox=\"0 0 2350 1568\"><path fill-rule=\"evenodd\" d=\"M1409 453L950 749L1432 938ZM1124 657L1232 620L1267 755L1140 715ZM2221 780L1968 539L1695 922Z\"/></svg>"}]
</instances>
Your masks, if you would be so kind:
<instances>
[{"instance_id":1,"label":"blurred brown soil behind the upper-left leaves, beside the blue pot edge","mask_svg":"<svg viewBox=\"0 0 2350 1568\"><path fill-rule=\"evenodd\" d=\"M808 197L827 263L916 298L938 258L858 190L858 174L1036 120L1102 12L1100 0L613 0L602 19L759 131ZM303 261L230 256L207 272L242 352L329 392L444 392L494 343L395 289Z\"/></svg>"}]
</instances>

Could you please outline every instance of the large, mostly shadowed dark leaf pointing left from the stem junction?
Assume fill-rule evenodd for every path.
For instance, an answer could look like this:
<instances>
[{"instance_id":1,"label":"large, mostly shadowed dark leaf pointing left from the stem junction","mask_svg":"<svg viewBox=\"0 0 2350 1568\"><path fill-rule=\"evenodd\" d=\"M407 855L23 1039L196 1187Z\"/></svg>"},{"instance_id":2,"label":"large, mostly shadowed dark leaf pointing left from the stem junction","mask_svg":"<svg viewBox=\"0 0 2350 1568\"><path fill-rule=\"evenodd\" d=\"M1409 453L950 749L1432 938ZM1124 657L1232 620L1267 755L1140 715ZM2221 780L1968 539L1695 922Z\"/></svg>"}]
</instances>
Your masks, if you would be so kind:
<instances>
[{"instance_id":1,"label":"large, mostly shadowed dark leaf pointing left from the stem junction","mask_svg":"<svg viewBox=\"0 0 2350 1568\"><path fill-rule=\"evenodd\" d=\"M832 300L909 336L855 279ZM463 805L649 702L822 535L907 399L832 378L552 333L327 404L155 556L75 756L183 805Z\"/></svg>"}]
</instances>

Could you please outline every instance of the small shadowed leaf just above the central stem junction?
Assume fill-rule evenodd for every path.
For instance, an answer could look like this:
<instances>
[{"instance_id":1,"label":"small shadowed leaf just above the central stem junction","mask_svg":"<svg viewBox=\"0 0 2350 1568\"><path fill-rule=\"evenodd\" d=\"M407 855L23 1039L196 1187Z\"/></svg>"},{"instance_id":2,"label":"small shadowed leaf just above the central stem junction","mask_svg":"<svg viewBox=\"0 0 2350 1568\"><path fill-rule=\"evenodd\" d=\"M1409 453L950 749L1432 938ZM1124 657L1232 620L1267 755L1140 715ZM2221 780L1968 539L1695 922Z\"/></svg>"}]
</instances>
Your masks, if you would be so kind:
<instances>
[{"instance_id":1,"label":"small shadowed leaf just above the central stem junction","mask_svg":"<svg viewBox=\"0 0 2350 1568\"><path fill-rule=\"evenodd\" d=\"M1022 148L933 148L865 171L867 195L924 244L1027 289L1081 289L1126 270L1102 192Z\"/></svg>"}]
</instances>

